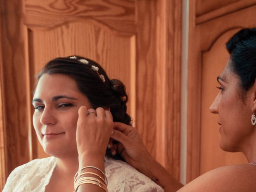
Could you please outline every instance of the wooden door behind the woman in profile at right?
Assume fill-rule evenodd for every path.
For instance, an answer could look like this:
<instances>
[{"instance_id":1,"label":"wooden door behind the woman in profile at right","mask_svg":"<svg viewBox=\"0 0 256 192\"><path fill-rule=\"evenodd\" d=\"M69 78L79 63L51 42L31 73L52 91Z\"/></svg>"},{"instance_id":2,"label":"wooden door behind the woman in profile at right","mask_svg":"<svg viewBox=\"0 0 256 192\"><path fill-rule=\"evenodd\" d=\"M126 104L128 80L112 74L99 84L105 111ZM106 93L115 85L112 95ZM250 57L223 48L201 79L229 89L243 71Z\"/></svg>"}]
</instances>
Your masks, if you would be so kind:
<instances>
[{"instance_id":1,"label":"wooden door behind the woman in profile at right","mask_svg":"<svg viewBox=\"0 0 256 192\"><path fill-rule=\"evenodd\" d=\"M216 78L228 59L225 43L241 28L256 24L255 1L198 0L191 6L196 12L190 25L187 182L220 166L248 163L242 153L220 149L218 115L210 114L209 107L219 92Z\"/></svg>"}]
</instances>

